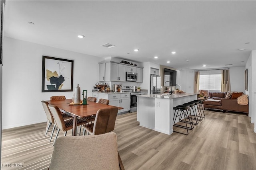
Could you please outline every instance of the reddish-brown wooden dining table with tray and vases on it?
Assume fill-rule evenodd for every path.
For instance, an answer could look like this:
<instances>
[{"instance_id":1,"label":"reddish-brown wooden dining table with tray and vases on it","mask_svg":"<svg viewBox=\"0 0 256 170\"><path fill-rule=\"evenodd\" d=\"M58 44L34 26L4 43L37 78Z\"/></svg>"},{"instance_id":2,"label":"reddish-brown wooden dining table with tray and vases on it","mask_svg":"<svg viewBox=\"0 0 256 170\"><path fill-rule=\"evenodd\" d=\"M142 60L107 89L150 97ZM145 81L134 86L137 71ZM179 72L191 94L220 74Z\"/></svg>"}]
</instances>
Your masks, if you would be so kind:
<instances>
[{"instance_id":1,"label":"reddish-brown wooden dining table with tray and vases on it","mask_svg":"<svg viewBox=\"0 0 256 170\"><path fill-rule=\"evenodd\" d=\"M108 109L116 106L98 104L95 102L87 102L86 105L69 105L72 99L66 100L48 100L49 104L59 107L60 111L71 115L74 117L73 121L73 136L76 136L77 128L77 118L78 117L88 117L91 115L96 115L98 109ZM118 107L118 109L123 109L123 107Z\"/></svg>"}]
</instances>

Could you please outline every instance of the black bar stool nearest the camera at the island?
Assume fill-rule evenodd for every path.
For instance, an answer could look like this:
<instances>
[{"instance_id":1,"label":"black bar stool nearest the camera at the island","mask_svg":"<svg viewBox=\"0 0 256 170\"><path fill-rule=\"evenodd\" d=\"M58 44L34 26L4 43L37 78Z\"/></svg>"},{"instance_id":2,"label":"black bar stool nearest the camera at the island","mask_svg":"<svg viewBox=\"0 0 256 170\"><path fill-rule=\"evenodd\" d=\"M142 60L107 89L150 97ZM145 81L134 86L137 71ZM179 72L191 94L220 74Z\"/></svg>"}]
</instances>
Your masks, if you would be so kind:
<instances>
[{"instance_id":1,"label":"black bar stool nearest the camera at the island","mask_svg":"<svg viewBox=\"0 0 256 170\"><path fill-rule=\"evenodd\" d=\"M179 106L173 107L173 109L174 109L173 126L187 129L187 133L182 133L182 132L178 132L178 131L174 131L174 132L181 133L181 134L184 134L184 135L188 135L188 129L190 129L190 130L193 129L191 122L186 121L186 114L188 112L189 107L190 107L189 105L179 105ZM180 113L179 113L179 111L180 111ZM176 115L176 117L175 117L175 115ZM184 115L184 123L186 124L186 126L175 124L175 121L176 121L178 116L179 116L179 122L182 122L181 120L182 120L183 115ZM174 117L175 117L175 119L174 119ZM190 127L188 127L188 125L187 125L188 123L190 124Z\"/></svg>"}]
</instances>

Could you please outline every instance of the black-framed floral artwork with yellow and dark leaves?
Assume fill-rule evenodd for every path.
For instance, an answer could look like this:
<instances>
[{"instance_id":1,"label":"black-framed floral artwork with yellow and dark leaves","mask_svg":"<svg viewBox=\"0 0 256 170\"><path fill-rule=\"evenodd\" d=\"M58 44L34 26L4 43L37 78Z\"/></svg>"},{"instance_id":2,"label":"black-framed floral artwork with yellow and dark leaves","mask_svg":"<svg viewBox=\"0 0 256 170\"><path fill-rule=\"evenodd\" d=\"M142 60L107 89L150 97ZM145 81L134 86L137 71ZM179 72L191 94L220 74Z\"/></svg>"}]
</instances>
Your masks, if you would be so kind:
<instances>
[{"instance_id":1,"label":"black-framed floral artwork with yellow and dark leaves","mask_svg":"<svg viewBox=\"0 0 256 170\"><path fill-rule=\"evenodd\" d=\"M42 92L72 92L74 61L42 57Z\"/></svg>"}]
</instances>

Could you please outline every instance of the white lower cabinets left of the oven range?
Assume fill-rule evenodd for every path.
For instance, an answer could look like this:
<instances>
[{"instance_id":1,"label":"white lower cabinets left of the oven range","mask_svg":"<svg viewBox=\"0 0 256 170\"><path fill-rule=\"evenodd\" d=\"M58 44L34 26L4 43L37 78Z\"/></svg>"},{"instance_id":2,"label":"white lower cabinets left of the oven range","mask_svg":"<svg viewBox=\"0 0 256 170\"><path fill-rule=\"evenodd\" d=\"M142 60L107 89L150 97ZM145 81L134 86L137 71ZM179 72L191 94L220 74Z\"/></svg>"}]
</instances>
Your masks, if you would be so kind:
<instances>
[{"instance_id":1,"label":"white lower cabinets left of the oven range","mask_svg":"<svg viewBox=\"0 0 256 170\"><path fill-rule=\"evenodd\" d=\"M122 94L98 93L98 99L101 99L101 98L109 100L108 105L124 108L119 110L118 113L122 113L124 111L130 111L130 93L122 93Z\"/></svg>"}]
</instances>

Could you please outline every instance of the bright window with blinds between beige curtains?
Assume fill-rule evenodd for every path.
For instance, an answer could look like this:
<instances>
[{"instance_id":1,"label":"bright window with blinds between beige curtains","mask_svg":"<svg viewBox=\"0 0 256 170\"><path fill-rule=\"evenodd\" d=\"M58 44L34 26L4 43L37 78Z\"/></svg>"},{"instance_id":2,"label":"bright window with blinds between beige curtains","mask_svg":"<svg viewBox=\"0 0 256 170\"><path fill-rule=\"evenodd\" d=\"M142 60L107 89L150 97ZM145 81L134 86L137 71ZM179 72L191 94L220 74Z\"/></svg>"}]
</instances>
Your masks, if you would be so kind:
<instances>
[{"instance_id":1,"label":"bright window with blinds between beige curtains","mask_svg":"<svg viewBox=\"0 0 256 170\"><path fill-rule=\"evenodd\" d=\"M200 74L199 89L220 92L221 74Z\"/></svg>"}]
</instances>

